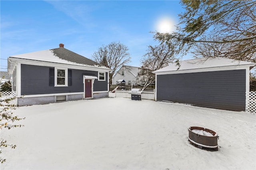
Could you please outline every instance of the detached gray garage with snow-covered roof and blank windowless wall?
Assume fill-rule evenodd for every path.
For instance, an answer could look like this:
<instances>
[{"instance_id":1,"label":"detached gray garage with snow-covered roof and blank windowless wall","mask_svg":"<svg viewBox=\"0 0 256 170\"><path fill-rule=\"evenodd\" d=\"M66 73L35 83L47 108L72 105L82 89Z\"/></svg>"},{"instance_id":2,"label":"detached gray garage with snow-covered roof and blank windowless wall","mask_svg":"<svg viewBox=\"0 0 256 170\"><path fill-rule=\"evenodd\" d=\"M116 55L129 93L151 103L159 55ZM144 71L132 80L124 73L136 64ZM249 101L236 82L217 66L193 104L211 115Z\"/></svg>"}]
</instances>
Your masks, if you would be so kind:
<instances>
[{"instance_id":1,"label":"detached gray garage with snow-covered roof and blank windowless wall","mask_svg":"<svg viewBox=\"0 0 256 170\"><path fill-rule=\"evenodd\" d=\"M222 57L191 59L156 70L156 100L245 111L256 63Z\"/></svg>"}]
</instances>

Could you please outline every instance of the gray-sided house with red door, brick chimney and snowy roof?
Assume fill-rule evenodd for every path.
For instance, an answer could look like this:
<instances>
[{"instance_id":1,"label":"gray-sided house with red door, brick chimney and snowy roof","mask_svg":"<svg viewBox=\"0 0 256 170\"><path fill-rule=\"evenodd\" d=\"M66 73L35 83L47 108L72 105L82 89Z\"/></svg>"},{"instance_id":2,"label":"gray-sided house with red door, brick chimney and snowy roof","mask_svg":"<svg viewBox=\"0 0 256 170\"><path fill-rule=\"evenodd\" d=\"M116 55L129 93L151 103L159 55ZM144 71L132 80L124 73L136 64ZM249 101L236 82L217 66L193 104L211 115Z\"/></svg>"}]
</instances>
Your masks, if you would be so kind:
<instances>
[{"instance_id":1,"label":"gray-sided house with red door, brick chimney and snowy roof","mask_svg":"<svg viewBox=\"0 0 256 170\"><path fill-rule=\"evenodd\" d=\"M8 57L18 105L108 97L111 69L64 48Z\"/></svg>"}]
</instances>

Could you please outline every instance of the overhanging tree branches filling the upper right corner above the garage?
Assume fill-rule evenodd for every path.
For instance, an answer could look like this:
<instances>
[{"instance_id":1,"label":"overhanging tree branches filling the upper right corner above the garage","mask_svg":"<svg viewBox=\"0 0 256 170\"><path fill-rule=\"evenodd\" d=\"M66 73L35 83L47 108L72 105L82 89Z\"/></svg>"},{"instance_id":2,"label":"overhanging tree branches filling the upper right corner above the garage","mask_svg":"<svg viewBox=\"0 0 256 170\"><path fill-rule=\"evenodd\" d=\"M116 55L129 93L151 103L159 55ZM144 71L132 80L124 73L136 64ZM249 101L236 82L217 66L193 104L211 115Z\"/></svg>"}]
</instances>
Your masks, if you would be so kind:
<instances>
[{"instance_id":1,"label":"overhanging tree branches filling the upper right corner above the garage","mask_svg":"<svg viewBox=\"0 0 256 170\"><path fill-rule=\"evenodd\" d=\"M182 0L179 32L156 33L154 38L176 44L176 53L195 49L215 55L256 62L256 1ZM183 27L181 27L183 26Z\"/></svg>"}]
</instances>

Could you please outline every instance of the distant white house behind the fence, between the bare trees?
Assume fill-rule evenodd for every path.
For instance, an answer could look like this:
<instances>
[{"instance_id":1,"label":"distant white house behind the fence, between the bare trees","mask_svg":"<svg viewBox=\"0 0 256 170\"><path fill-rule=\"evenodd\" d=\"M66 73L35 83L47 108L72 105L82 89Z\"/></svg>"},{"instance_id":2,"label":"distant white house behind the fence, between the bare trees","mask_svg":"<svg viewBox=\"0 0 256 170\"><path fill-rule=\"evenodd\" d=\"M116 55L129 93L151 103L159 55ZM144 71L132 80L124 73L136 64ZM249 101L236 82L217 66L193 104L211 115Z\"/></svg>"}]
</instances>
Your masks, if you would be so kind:
<instances>
[{"instance_id":1,"label":"distant white house behind the fence, between the bare trees","mask_svg":"<svg viewBox=\"0 0 256 170\"><path fill-rule=\"evenodd\" d=\"M137 77L140 71L140 67L133 67L123 65L112 78L112 84L118 85L119 83L126 83L131 85L132 83L137 84Z\"/></svg>"}]
</instances>

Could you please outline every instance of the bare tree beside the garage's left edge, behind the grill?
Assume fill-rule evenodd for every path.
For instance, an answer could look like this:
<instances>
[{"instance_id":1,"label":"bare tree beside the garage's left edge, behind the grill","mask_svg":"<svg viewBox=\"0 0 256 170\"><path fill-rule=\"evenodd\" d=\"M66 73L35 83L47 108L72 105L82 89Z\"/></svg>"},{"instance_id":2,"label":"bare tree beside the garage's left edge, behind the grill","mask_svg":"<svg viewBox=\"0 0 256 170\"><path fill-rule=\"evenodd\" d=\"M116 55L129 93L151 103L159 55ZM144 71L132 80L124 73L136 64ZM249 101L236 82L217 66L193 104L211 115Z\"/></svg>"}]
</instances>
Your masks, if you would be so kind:
<instances>
[{"instance_id":1,"label":"bare tree beside the garage's left edge, behind the grill","mask_svg":"<svg viewBox=\"0 0 256 170\"><path fill-rule=\"evenodd\" d=\"M170 63L174 62L174 59L174 51L172 47L166 43L156 46L148 45L147 53L142 56L142 69L138 73L137 78L138 82L144 82L142 91L146 89L148 85L155 82L155 74L152 73L152 71L168 66Z\"/></svg>"}]
</instances>

